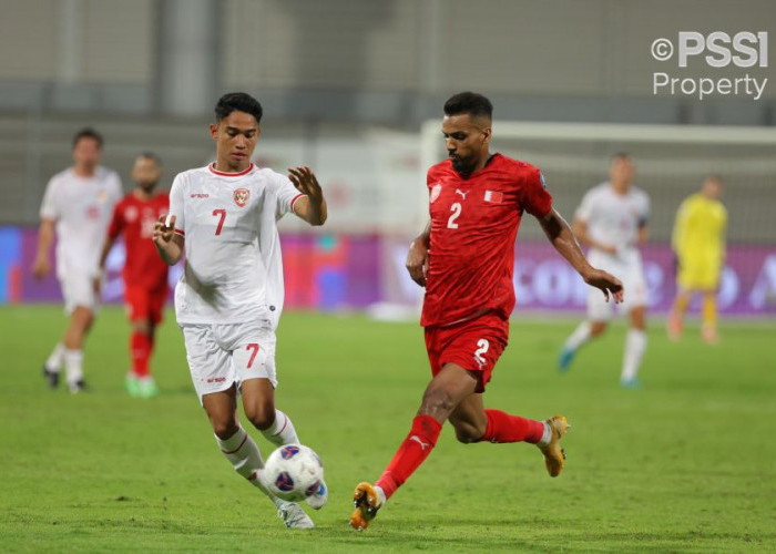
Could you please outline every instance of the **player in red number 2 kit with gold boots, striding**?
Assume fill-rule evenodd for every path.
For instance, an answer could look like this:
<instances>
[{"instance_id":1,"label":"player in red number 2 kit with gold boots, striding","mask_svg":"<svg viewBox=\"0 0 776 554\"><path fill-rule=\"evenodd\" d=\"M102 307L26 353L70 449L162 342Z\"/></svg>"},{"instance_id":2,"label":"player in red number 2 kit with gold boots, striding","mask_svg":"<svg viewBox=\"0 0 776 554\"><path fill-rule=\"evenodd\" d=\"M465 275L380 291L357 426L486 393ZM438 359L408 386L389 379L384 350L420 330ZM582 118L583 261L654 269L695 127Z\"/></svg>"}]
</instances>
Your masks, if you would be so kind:
<instances>
[{"instance_id":1,"label":"player in red number 2 kit with gold boots, striding","mask_svg":"<svg viewBox=\"0 0 776 554\"><path fill-rule=\"evenodd\" d=\"M555 249L588 285L622 301L622 284L593 268L569 225L552 207L541 172L490 154L492 104L462 92L445 104L442 134L449 158L428 172L431 220L410 245L407 269L426 287L420 324L433 378L412 427L372 485L360 483L350 525L364 530L433 450L448 420L460 442L529 442L551 476L563 469L563 416L537 421L484 409L482 393L507 347L514 308L514 240L524 212L541 224Z\"/></svg>"}]
</instances>

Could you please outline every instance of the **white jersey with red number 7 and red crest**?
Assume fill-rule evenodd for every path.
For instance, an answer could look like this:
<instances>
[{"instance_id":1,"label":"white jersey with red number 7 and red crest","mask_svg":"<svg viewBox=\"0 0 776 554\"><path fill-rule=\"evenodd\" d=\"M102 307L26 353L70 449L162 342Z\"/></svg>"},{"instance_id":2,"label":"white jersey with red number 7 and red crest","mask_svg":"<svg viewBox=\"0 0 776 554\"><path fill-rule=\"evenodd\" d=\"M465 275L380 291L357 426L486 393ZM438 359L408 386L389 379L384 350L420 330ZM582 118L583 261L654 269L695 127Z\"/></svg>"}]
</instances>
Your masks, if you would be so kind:
<instances>
[{"instance_id":1,"label":"white jersey with red number 7 and red crest","mask_svg":"<svg viewBox=\"0 0 776 554\"><path fill-rule=\"evenodd\" d=\"M284 288L276 222L302 196L284 175L253 164L242 173L207 165L175 177L170 213L186 254L175 287L178 324L277 327Z\"/></svg>"}]
</instances>

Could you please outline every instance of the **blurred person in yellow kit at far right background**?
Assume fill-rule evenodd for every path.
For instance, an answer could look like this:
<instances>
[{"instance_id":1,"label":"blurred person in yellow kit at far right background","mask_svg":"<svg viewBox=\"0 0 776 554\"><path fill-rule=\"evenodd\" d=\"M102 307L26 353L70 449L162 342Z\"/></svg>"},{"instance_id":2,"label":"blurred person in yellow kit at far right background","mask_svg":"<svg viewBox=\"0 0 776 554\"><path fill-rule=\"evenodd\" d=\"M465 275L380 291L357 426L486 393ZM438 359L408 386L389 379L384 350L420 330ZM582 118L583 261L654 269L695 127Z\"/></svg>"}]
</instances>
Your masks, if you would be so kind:
<instances>
[{"instance_id":1,"label":"blurred person in yellow kit at far right background","mask_svg":"<svg viewBox=\"0 0 776 554\"><path fill-rule=\"evenodd\" d=\"M722 179L709 175L696 194L680 205L671 245L676 255L676 298L668 315L668 337L682 336L684 315L694 293L703 295L701 336L708 343L717 341L716 293L725 263L727 211L719 201Z\"/></svg>"}]
</instances>

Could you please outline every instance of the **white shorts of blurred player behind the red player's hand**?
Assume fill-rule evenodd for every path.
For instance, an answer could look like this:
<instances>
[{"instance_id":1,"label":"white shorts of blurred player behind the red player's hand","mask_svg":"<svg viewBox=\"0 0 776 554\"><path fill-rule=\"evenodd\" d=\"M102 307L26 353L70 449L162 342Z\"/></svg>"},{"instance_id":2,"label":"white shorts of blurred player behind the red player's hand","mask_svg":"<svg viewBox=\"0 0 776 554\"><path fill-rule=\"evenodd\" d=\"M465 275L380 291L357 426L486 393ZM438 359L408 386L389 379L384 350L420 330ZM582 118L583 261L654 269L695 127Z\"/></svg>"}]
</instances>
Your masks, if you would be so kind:
<instances>
[{"instance_id":1,"label":"white shorts of blurred player behind the red player's hand","mask_svg":"<svg viewBox=\"0 0 776 554\"><path fill-rule=\"evenodd\" d=\"M633 308L646 306L649 301L641 258L629 264L607 261L603 256L590 256L590 263L593 267L609 271L622 281L625 293L624 300L622 304L614 304L610 296L609 301L606 301L601 290L590 287L588 290L588 319L591 321L609 321L614 316L615 306L620 312L629 314Z\"/></svg>"}]
</instances>

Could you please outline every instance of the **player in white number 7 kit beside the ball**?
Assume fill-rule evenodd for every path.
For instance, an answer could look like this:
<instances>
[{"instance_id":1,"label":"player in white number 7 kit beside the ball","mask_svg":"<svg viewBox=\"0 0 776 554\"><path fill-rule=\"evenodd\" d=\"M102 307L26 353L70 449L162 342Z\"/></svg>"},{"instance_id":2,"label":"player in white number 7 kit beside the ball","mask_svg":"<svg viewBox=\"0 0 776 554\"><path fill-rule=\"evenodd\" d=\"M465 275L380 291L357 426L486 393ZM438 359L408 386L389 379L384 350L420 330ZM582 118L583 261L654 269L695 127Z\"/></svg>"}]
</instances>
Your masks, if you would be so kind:
<instances>
[{"instance_id":1,"label":"player in white number 7 kit beside the ball","mask_svg":"<svg viewBox=\"0 0 776 554\"><path fill-rule=\"evenodd\" d=\"M156 223L153 240L170 265L185 252L175 315L218 447L275 503L287 527L309 529L313 521L298 504L264 486L262 455L236 412L241 394L245 416L274 445L299 442L288 416L275 408L275 329L284 299L276 220L289 212L310 225L326 220L326 201L308 167L288 170L286 177L251 162L262 113L245 93L218 100L210 127L216 161L175 177L170 214ZM307 497L315 509L326 500L323 482Z\"/></svg>"}]
</instances>

